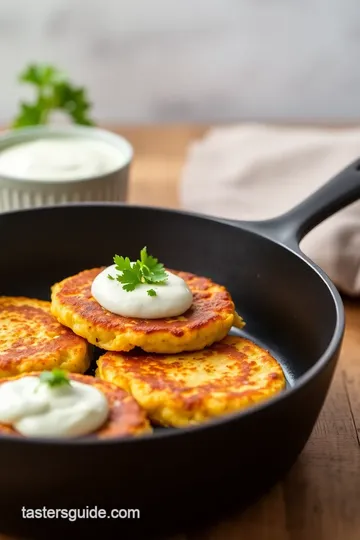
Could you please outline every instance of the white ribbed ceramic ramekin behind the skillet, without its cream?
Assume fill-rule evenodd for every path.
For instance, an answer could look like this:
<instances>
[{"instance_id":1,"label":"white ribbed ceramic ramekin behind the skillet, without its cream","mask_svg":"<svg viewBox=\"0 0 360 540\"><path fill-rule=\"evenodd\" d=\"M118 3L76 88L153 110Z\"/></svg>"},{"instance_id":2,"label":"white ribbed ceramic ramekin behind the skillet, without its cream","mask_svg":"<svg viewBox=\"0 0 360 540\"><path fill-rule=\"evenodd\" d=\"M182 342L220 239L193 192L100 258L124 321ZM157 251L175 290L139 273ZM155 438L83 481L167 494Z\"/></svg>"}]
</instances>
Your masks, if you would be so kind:
<instances>
[{"instance_id":1,"label":"white ribbed ceramic ramekin behind the skillet, without its cream","mask_svg":"<svg viewBox=\"0 0 360 540\"><path fill-rule=\"evenodd\" d=\"M126 139L110 131L77 125L15 129L0 135L0 153L10 146L59 136L106 142L121 153L122 163L111 172L80 180L37 181L0 173L0 212L70 202L126 201L133 148Z\"/></svg>"}]
</instances>

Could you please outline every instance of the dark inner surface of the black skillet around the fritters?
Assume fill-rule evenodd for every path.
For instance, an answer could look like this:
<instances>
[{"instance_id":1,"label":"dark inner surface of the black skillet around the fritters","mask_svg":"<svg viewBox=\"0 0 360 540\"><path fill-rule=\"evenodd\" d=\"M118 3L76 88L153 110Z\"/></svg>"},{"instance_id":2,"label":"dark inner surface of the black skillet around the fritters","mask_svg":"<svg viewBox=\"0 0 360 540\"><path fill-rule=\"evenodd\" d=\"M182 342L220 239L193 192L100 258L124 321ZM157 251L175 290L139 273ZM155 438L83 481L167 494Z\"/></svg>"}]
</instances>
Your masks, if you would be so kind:
<instances>
[{"instance_id":1,"label":"dark inner surface of the black skillet around the fritters","mask_svg":"<svg viewBox=\"0 0 360 540\"><path fill-rule=\"evenodd\" d=\"M231 225L97 204L3 214L0 231L1 295L50 299L54 282L110 265L115 253L137 257L146 245L166 266L225 285L246 321L240 334L275 356L289 385L333 337L336 304L322 277L282 246Z\"/></svg>"}]
</instances>

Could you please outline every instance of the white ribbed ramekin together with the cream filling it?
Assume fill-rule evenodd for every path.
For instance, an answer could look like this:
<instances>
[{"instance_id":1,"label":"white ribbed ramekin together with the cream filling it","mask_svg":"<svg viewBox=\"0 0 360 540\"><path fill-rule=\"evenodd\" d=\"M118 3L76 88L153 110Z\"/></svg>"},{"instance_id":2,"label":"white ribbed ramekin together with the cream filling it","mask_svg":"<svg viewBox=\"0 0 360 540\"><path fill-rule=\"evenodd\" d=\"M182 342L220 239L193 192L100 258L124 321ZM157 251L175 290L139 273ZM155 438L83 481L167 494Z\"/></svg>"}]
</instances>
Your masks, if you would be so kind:
<instances>
[{"instance_id":1,"label":"white ribbed ramekin together with the cream filling it","mask_svg":"<svg viewBox=\"0 0 360 540\"><path fill-rule=\"evenodd\" d=\"M131 144L94 127L34 126L0 136L0 212L71 202L124 202Z\"/></svg>"}]
</instances>

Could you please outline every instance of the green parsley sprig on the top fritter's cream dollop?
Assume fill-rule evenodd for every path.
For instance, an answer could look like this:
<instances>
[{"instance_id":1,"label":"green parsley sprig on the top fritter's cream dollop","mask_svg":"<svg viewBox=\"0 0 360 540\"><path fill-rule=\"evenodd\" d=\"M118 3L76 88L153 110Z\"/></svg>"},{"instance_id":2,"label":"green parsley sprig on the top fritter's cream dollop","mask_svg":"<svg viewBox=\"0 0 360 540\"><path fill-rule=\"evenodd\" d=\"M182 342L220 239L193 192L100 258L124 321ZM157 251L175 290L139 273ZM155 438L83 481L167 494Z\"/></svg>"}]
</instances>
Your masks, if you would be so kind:
<instances>
[{"instance_id":1,"label":"green parsley sprig on the top fritter's cream dollop","mask_svg":"<svg viewBox=\"0 0 360 540\"><path fill-rule=\"evenodd\" d=\"M122 284L124 291L134 291L138 285L164 285L168 279L164 265L152 255L148 255L146 246L140 251L140 259L131 262L129 257L114 257L116 278L108 275L109 279L116 279ZM154 289L148 289L149 296L157 296Z\"/></svg>"}]
</instances>

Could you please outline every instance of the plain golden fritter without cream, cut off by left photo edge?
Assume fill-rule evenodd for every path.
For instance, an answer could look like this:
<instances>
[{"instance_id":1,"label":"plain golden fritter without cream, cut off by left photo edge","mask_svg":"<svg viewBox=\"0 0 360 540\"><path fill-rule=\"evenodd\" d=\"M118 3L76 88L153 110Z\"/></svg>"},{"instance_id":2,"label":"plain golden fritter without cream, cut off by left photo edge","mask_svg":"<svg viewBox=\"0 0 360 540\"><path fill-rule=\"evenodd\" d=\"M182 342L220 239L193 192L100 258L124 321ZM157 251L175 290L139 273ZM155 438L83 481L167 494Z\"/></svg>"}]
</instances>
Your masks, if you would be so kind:
<instances>
[{"instance_id":1,"label":"plain golden fritter without cream, cut off by left photo edge","mask_svg":"<svg viewBox=\"0 0 360 540\"><path fill-rule=\"evenodd\" d=\"M51 314L50 302L0 297L0 377L54 367L84 373L92 347Z\"/></svg>"}]
</instances>

